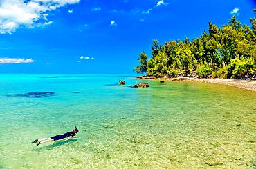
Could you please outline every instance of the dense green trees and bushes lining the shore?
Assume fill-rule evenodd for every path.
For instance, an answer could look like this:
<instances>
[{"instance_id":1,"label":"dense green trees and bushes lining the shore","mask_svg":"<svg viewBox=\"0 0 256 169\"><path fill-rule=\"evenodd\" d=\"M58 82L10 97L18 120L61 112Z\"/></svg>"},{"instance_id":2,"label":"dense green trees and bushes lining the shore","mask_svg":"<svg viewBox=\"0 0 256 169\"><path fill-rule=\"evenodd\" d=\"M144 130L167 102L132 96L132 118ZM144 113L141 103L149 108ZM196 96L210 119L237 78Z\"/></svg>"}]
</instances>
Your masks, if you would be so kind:
<instances>
[{"instance_id":1,"label":"dense green trees and bushes lining the shore","mask_svg":"<svg viewBox=\"0 0 256 169\"><path fill-rule=\"evenodd\" d=\"M256 14L256 8L253 10ZM193 74L198 77L255 78L256 76L256 19L251 27L233 16L227 25L217 28L209 22L208 32L201 37L183 41L153 40L152 57L140 52L137 73L154 77L179 77Z\"/></svg>"}]
</instances>

